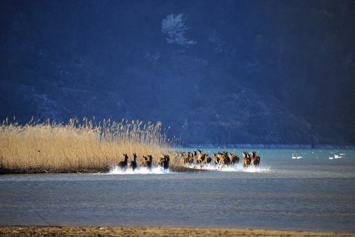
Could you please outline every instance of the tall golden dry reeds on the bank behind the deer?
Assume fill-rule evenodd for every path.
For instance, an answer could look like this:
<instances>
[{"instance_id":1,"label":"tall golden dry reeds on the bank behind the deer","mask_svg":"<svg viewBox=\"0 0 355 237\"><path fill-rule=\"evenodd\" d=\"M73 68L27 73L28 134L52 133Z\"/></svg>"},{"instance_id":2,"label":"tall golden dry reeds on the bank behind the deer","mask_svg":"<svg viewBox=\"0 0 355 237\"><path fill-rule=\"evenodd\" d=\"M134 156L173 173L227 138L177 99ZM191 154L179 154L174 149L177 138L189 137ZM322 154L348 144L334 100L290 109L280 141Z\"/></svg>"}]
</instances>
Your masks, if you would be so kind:
<instances>
[{"instance_id":1,"label":"tall golden dry reeds on the bank behind the deer","mask_svg":"<svg viewBox=\"0 0 355 237\"><path fill-rule=\"evenodd\" d=\"M105 168L135 152L140 161L152 154L154 160L168 153L162 123L144 124L139 120L113 122L76 118L67 124L46 122L3 121L0 125L0 166L9 169L46 168Z\"/></svg>"}]
</instances>

